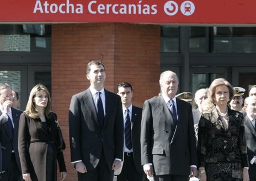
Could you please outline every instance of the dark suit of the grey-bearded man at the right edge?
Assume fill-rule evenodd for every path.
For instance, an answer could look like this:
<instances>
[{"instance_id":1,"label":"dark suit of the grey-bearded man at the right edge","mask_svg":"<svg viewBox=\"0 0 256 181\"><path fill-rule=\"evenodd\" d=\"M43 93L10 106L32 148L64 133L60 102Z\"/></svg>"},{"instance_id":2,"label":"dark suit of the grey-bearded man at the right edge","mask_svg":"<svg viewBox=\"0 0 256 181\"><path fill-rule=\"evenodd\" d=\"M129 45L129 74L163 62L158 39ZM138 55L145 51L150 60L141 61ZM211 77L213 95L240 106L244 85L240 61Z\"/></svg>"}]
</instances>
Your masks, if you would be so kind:
<instances>
[{"instance_id":1,"label":"dark suit of the grey-bearded man at the right edge","mask_svg":"<svg viewBox=\"0 0 256 181\"><path fill-rule=\"evenodd\" d=\"M244 128L246 131L246 145L248 160L252 160L256 155L256 129L253 127L251 120L246 116L244 118ZM256 180L256 164L249 164L249 178L250 181Z\"/></svg>"}]
</instances>

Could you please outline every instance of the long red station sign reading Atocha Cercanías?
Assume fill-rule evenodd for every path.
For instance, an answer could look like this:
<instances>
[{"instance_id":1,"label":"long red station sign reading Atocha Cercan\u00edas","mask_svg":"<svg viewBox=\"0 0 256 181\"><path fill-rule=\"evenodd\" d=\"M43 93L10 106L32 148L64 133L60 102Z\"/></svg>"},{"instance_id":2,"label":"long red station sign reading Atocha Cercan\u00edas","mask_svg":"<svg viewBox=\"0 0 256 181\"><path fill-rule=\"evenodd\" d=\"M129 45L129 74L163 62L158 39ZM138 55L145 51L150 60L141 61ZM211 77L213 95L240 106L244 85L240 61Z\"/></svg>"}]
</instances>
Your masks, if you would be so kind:
<instances>
[{"instance_id":1,"label":"long red station sign reading Atocha Cercan\u00edas","mask_svg":"<svg viewBox=\"0 0 256 181\"><path fill-rule=\"evenodd\" d=\"M0 21L256 24L255 7L255 0L6 0Z\"/></svg>"}]
</instances>

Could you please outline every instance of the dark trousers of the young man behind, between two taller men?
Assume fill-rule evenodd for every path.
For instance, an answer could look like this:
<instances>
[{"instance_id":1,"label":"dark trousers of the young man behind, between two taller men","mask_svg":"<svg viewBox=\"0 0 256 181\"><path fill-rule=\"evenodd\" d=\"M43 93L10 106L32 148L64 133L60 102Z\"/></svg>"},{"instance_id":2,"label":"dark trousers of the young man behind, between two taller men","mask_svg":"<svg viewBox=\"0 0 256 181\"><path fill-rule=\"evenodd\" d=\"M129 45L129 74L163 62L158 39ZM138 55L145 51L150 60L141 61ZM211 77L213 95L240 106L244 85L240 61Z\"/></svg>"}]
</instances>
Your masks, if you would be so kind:
<instances>
[{"instance_id":1,"label":"dark trousers of the young man behind, between two taller men","mask_svg":"<svg viewBox=\"0 0 256 181\"><path fill-rule=\"evenodd\" d=\"M124 164L122 165L122 171L117 176L117 181L142 181L145 180L146 174L137 171L132 152L124 153ZM143 179L143 177L145 177Z\"/></svg>"}]
</instances>

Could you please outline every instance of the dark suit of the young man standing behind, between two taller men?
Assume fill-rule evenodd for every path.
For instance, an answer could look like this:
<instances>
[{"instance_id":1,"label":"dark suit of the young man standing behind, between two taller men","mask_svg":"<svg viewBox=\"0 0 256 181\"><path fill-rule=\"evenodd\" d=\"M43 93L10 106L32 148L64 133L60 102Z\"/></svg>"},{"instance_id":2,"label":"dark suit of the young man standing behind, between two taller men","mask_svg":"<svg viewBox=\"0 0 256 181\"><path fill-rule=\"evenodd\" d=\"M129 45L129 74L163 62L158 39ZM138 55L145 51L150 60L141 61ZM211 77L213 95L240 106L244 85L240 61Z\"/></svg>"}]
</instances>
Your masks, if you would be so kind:
<instances>
[{"instance_id":1,"label":"dark suit of the young man standing behind, between two taller men","mask_svg":"<svg viewBox=\"0 0 256 181\"><path fill-rule=\"evenodd\" d=\"M140 134L141 134L141 116L142 108L132 106L131 111L131 139L132 139L132 154L131 156L124 156L124 162L122 167L119 169L119 174L117 180L142 180L142 176L145 175L141 166L141 143L140 143ZM131 160L132 159L132 164Z\"/></svg>"}]
</instances>

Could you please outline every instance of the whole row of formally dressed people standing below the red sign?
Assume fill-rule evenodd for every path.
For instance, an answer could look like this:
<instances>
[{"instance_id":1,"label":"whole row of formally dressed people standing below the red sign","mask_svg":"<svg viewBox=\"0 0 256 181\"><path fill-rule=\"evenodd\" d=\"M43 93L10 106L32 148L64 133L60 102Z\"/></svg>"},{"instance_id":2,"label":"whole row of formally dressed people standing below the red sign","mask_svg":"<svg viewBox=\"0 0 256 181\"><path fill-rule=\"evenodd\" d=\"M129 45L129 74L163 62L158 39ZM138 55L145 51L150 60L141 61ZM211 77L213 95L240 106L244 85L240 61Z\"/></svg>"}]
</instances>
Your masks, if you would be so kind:
<instances>
[{"instance_id":1,"label":"whole row of formally dressed people standing below the red sign","mask_svg":"<svg viewBox=\"0 0 256 181\"><path fill-rule=\"evenodd\" d=\"M256 85L218 78L195 95L177 94L172 71L159 77L161 93L132 104L132 85L104 88L104 64L87 65L87 90L73 95L68 113L71 163L78 180L256 181ZM194 109L196 104L196 109ZM18 93L0 84L0 180L56 181L67 171L58 149L50 92L38 84L25 111Z\"/></svg>"}]
</instances>

